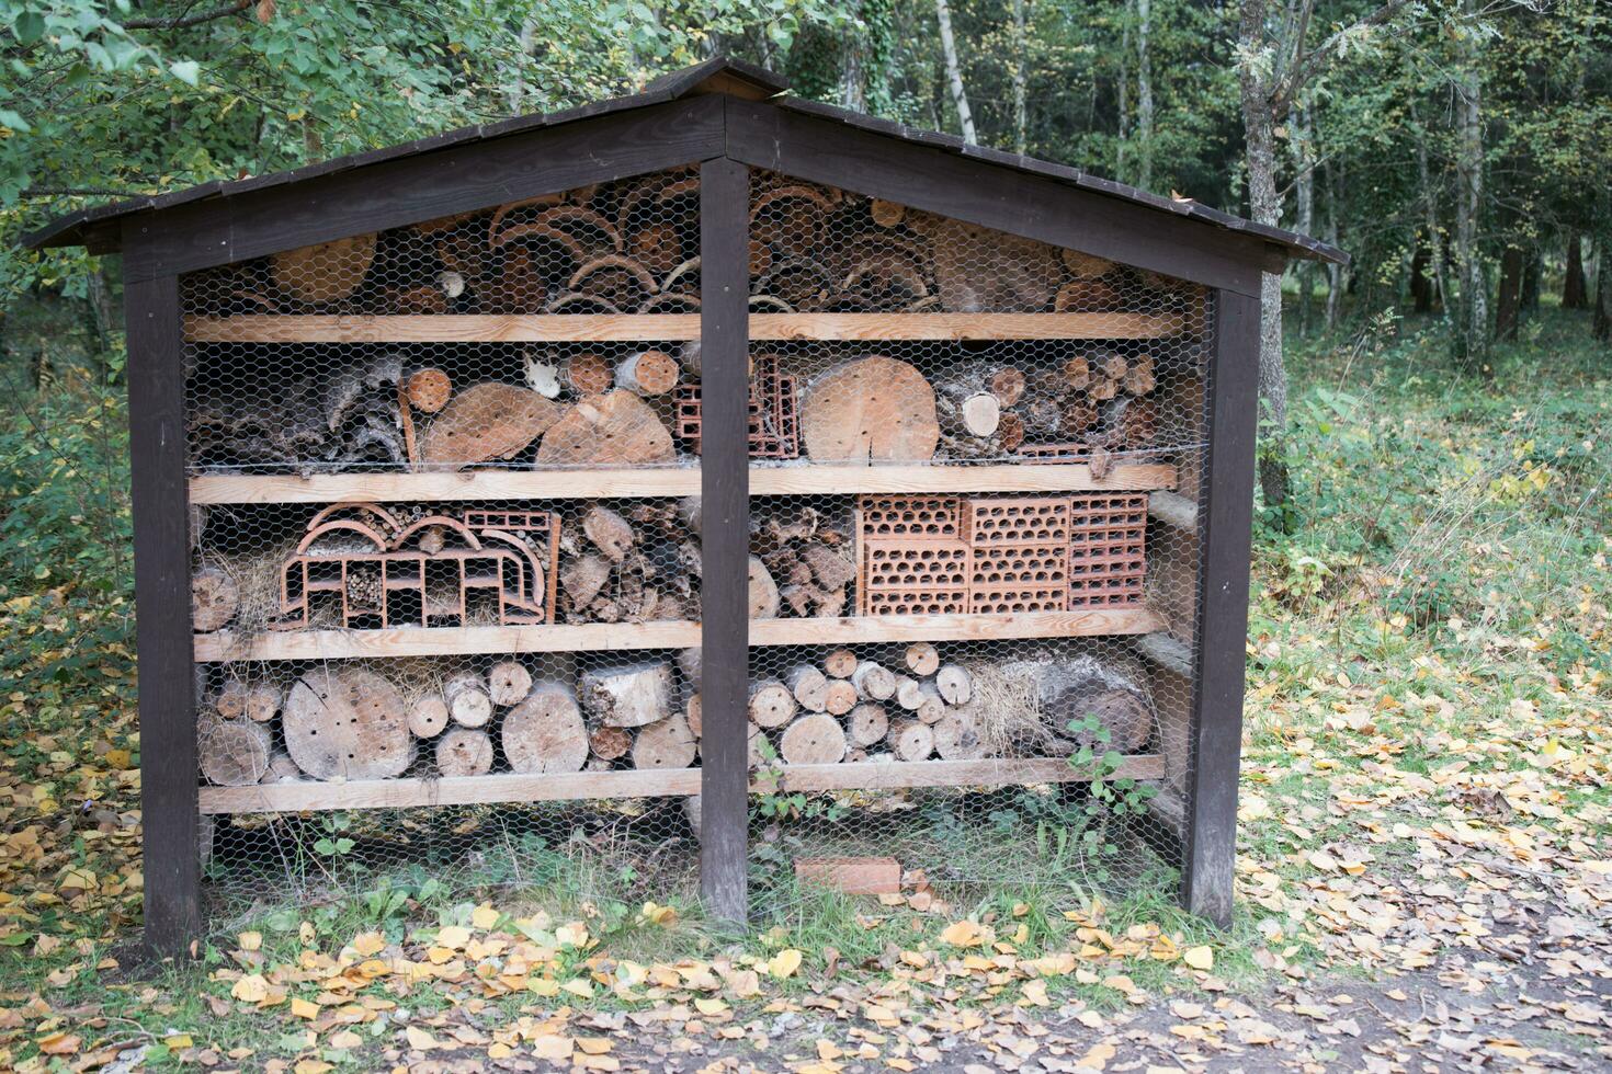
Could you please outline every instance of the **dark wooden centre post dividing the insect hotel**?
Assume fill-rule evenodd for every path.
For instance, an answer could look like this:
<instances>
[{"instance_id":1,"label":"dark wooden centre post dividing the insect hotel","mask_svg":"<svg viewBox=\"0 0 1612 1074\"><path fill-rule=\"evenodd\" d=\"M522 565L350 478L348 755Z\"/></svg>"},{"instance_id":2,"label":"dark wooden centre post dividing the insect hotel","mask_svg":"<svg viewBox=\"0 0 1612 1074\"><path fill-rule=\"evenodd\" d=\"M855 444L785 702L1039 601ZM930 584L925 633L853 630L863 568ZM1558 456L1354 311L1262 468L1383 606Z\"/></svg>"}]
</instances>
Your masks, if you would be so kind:
<instances>
[{"instance_id":1,"label":"dark wooden centre post dividing the insect hotel","mask_svg":"<svg viewBox=\"0 0 1612 1074\"><path fill-rule=\"evenodd\" d=\"M750 758L750 172L700 166L700 894L729 921L746 913Z\"/></svg>"}]
</instances>

